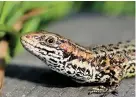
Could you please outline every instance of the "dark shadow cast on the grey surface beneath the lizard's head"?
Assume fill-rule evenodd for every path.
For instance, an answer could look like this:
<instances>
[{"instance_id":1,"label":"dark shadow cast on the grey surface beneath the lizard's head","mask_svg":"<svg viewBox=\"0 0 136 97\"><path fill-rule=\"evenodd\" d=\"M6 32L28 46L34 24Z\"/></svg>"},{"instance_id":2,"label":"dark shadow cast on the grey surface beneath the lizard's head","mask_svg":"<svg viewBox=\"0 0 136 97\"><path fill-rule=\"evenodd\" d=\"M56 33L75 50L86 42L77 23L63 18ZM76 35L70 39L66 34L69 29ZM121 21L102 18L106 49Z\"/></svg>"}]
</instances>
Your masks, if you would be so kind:
<instances>
[{"instance_id":1,"label":"dark shadow cast on the grey surface beneath the lizard's head","mask_svg":"<svg viewBox=\"0 0 136 97\"><path fill-rule=\"evenodd\" d=\"M16 78L19 80L26 80L34 82L46 87L79 87L78 83L72 81L57 72L51 71L47 68L13 65L9 64L6 68L6 77Z\"/></svg>"}]
</instances>

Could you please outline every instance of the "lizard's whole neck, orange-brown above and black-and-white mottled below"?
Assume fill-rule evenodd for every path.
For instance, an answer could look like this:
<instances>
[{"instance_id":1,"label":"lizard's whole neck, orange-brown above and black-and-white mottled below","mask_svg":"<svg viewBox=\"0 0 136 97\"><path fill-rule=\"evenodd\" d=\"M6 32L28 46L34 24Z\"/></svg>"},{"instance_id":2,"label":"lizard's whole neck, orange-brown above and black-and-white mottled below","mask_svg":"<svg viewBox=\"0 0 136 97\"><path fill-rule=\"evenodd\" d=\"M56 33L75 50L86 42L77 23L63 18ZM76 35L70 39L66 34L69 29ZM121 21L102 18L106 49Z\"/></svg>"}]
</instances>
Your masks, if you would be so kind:
<instances>
[{"instance_id":1,"label":"lizard's whole neck, orange-brown above and black-and-white mottled below","mask_svg":"<svg viewBox=\"0 0 136 97\"><path fill-rule=\"evenodd\" d=\"M61 43L60 48L63 50L62 61L65 63L64 70L59 71L60 73L80 83L96 81L95 75L99 73L98 66L91 63L95 58L95 53L70 41Z\"/></svg>"}]
</instances>

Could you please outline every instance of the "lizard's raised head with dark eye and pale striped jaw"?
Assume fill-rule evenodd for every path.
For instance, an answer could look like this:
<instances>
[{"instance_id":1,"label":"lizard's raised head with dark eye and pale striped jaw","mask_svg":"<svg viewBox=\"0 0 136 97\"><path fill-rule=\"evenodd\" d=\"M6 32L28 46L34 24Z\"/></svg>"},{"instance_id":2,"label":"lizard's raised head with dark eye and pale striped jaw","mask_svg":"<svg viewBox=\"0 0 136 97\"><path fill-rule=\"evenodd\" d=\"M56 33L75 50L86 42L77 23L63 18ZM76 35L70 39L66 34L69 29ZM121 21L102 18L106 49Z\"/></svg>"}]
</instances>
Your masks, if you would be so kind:
<instances>
[{"instance_id":1,"label":"lizard's raised head with dark eye and pale striped jaw","mask_svg":"<svg viewBox=\"0 0 136 97\"><path fill-rule=\"evenodd\" d=\"M66 61L72 52L72 47L66 39L58 34L40 31L21 36L23 47L31 54L50 65L59 64L60 60ZM69 52L68 52L69 50Z\"/></svg>"}]
</instances>

